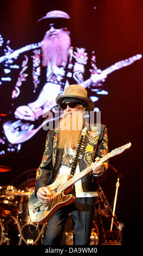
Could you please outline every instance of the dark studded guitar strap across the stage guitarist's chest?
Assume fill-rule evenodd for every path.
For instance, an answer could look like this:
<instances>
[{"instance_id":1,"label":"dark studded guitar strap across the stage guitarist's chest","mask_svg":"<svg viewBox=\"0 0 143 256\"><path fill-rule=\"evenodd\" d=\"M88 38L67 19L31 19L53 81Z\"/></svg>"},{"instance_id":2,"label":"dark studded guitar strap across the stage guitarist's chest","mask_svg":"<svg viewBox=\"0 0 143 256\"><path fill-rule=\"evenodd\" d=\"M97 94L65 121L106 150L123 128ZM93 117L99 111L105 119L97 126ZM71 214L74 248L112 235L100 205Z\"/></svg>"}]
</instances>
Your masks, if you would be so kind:
<instances>
[{"instance_id":1,"label":"dark studded guitar strap across the stage guitarist's chest","mask_svg":"<svg viewBox=\"0 0 143 256\"><path fill-rule=\"evenodd\" d=\"M79 160L82 159L81 151L85 147L86 130L87 130L87 127L83 128L83 130L81 132L81 137L80 137L78 143L75 145L76 151L74 154L72 168L70 170L70 178L72 178L74 176L77 164L79 163Z\"/></svg>"}]
</instances>

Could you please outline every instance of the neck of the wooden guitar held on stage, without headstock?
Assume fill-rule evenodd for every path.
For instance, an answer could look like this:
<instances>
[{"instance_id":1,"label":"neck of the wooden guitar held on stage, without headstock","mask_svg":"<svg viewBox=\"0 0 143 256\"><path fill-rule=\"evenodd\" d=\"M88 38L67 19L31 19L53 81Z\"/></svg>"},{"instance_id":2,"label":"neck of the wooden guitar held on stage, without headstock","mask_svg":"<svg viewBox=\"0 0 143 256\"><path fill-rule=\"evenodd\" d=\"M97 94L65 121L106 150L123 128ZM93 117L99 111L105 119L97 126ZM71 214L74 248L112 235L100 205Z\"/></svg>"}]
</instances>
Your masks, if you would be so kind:
<instances>
[{"instance_id":1,"label":"neck of the wooden guitar held on stage, without headstock","mask_svg":"<svg viewBox=\"0 0 143 256\"><path fill-rule=\"evenodd\" d=\"M107 159L109 159L111 157L111 153L108 153L107 155L103 156L99 163L102 164L103 162L105 162ZM71 187L75 184L76 181L82 179L84 176L86 176L88 173L90 173L92 171L92 167L89 166L86 169L82 170L82 172L80 172L79 174L73 176L73 178L69 179L67 182L65 182L64 184L62 184L60 186L60 190L64 191L66 190L66 188Z\"/></svg>"}]
</instances>

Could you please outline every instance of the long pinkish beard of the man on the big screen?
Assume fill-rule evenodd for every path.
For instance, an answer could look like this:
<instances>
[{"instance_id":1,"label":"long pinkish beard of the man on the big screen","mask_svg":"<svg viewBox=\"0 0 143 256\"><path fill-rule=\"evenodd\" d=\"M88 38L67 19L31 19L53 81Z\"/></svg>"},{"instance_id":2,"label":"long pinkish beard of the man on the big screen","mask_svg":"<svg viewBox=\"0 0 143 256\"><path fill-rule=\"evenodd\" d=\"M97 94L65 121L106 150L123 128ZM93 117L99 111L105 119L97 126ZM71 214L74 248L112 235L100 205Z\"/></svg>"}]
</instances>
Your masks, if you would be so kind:
<instances>
[{"instance_id":1,"label":"long pinkish beard of the man on the big screen","mask_svg":"<svg viewBox=\"0 0 143 256\"><path fill-rule=\"evenodd\" d=\"M60 29L55 36L46 33L42 41L42 66L61 66L67 62L70 46L69 32Z\"/></svg>"}]
</instances>

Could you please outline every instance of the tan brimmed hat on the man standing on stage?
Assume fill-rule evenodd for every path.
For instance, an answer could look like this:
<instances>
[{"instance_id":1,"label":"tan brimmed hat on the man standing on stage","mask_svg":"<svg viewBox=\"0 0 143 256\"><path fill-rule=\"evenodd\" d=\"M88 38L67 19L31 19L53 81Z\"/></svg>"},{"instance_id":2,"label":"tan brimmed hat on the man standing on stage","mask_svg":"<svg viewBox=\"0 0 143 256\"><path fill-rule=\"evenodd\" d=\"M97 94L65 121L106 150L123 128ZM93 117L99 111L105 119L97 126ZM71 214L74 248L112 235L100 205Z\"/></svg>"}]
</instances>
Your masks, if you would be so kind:
<instances>
[{"instance_id":1,"label":"tan brimmed hat on the man standing on stage","mask_svg":"<svg viewBox=\"0 0 143 256\"><path fill-rule=\"evenodd\" d=\"M79 84L68 86L63 95L56 97L56 103L59 107L60 104L63 103L64 98L69 98L70 101L72 98L82 100L86 102L88 112L94 110L94 102L87 97L87 90L82 86L79 86Z\"/></svg>"}]
</instances>

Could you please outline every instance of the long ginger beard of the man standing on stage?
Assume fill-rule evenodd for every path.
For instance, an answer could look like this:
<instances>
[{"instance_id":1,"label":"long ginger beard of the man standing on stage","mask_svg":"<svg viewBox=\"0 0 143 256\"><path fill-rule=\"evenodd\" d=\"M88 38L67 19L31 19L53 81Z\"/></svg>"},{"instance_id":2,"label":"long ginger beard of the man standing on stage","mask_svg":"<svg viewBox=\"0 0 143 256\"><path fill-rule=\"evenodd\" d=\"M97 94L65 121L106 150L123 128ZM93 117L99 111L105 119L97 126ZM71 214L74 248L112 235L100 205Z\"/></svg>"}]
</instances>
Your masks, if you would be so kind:
<instances>
[{"instance_id":1,"label":"long ginger beard of the man standing on stage","mask_svg":"<svg viewBox=\"0 0 143 256\"><path fill-rule=\"evenodd\" d=\"M81 111L73 113L71 111L63 115L63 118L59 122L58 148L74 149L81 135L83 121Z\"/></svg>"}]
</instances>

